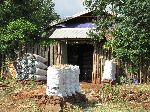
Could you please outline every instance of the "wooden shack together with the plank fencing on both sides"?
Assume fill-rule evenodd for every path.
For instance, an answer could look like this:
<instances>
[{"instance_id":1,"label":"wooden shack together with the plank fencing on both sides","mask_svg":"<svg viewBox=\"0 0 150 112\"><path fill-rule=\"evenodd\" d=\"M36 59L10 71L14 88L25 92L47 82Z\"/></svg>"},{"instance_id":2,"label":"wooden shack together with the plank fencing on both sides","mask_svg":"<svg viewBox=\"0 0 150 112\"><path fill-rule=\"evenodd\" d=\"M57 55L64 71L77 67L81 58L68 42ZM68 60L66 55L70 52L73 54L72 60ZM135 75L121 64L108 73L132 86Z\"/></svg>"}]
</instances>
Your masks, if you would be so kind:
<instances>
[{"instance_id":1,"label":"wooden shack together with the plank fencing on both sides","mask_svg":"<svg viewBox=\"0 0 150 112\"><path fill-rule=\"evenodd\" d=\"M81 12L60 21L51 23L48 27L49 38L55 40L54 44L42 46L39 44L26 45L24 52L35 53L48 59L47 65L73 64L80 66L80 81L101 83L104 62L111 59L111 52L103 49L107 40L93 41L87 33L96 27L92 23L97 17L92 12ZM108 38L109 35L106 36ZM23 54L23 53L21 53ZM124 75L127 79L133 79L135 74L128 72L130 63L116 60L116 78ZM142 62L139 65L136 77L138 81L150 82L150 62Z\"/></svg>"}]
</instances>

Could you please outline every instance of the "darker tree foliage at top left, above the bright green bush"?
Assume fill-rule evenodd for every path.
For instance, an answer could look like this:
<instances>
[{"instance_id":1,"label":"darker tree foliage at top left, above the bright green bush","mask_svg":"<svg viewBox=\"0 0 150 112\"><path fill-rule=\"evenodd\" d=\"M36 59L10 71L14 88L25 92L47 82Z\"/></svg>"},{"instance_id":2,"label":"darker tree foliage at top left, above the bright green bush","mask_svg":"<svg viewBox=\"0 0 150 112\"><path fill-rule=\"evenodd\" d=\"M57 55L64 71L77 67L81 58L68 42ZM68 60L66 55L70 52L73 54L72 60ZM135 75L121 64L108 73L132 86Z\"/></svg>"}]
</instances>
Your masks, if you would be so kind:
<instances>
[{"instance_id":1,"label":"darker tree foliage at top left, above the bright green bush","mask_svg":"<svg viewBox=\"0 0 150 112\"><path fill-rule=\"evenodd\" d=\"M18 18L25 18L43 30L58 18L52 0L3 0L0 3L0 26Z\"/></svg>"}]
</instances>

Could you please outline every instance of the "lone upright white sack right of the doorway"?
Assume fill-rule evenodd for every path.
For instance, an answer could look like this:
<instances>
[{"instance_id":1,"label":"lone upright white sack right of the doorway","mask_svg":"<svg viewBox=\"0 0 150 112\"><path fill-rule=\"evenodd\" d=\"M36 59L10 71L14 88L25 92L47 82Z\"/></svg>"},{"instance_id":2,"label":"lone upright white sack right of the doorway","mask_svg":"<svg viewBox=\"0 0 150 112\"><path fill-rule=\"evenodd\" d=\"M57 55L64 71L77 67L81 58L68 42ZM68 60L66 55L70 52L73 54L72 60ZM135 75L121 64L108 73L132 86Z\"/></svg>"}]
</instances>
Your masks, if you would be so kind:
<instances>
[{"instance_id":1,"label":"lone upright white sack right of the doorway","mask_svg":"<svg viewBox=\"0 0 150 112\"><path fill-rule=\"evenodd\" d=\"M106 60L104 65L104 72L103 72L103 80L116 80L115 78L116 74L116 64L113 62L113 60Z\"/></svg>"}]
</instances>

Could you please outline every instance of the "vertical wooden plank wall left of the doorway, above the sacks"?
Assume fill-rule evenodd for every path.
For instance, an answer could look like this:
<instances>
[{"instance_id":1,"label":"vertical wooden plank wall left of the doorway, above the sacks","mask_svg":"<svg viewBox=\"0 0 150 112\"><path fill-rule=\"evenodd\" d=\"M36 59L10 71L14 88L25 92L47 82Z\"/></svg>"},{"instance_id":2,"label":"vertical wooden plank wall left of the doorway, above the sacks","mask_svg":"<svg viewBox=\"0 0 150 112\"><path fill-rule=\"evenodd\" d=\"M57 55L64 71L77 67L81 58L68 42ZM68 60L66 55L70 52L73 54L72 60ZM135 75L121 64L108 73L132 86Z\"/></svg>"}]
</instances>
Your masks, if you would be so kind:
<instances>
[{"instance_id":1,"label":"vertical wooden plank wall left of the doorway, above the sacks","mask_svg":"<svg viewBox=\"0 0 150 112\"><path fill-rule=\"evenodd\" d=\"M26 45L24 53L38 54L48 59L48 66L62 63L62 44L60 43L51 44L49 46L39 44Z\"/></svg>"}]
</instances>

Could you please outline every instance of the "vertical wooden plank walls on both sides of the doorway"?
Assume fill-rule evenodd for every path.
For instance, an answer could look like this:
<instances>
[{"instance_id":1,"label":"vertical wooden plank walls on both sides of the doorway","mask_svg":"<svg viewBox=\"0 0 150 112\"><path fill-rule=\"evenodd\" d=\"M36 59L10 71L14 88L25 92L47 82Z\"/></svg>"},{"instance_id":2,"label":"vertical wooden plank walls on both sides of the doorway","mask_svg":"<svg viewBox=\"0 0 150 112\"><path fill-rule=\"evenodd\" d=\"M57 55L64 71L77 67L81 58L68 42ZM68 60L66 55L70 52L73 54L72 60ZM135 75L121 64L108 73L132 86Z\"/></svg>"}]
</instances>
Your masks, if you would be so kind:
<instances>
[{"instance_id":1,"label":"vertical wooden plank walls on both sides of the doorway","mask_svg":"<svg viewBox=\"0 0 150 112\"><path fill-rule=\"evenodd\" d=\"M62 44L55 44L49 46L42 45L26 45L24 53L35 53L41 55L48 59L47 65L61 64L62 63ZM1 56L1 62L3 62L3 57ZM111 59L111 52L102 49L100 44L94 44L93 52L93 72L92 72L92 82L101 83L101 78L103 74L104 62L107 59ZM132 78L134 74L128 73L127 67L130 66L129 63L125 63L121 60L117 60L117 73L116 77L125 74L128 78ZM141 66L142 65L142 66ZM150 82L150 61L146 62L144 65L141 63L138 72L139 82ZM2 73L2 72L1 72Z\"/></svg>"}]
</instances>

